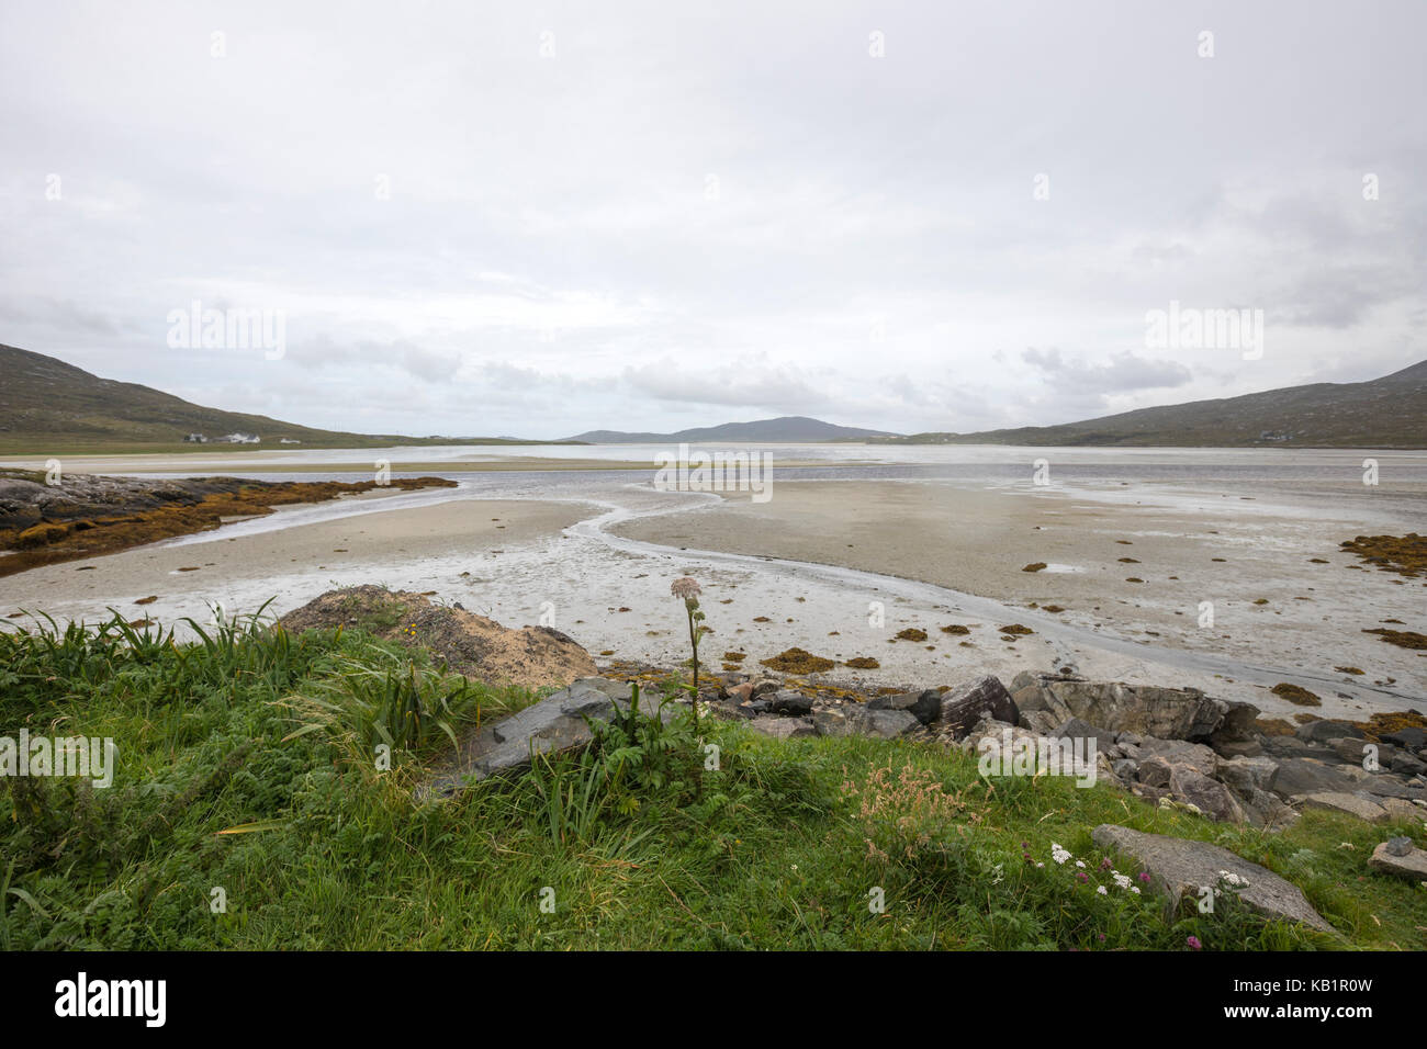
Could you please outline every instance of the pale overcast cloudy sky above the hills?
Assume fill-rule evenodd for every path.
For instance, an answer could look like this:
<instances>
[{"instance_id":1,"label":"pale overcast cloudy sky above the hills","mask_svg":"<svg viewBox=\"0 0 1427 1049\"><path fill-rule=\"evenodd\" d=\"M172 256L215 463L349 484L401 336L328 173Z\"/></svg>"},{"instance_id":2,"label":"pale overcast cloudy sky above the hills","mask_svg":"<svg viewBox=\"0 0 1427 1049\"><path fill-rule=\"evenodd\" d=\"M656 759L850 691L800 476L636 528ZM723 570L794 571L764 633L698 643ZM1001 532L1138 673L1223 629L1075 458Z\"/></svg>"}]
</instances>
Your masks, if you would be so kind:
<instances>
[{"instance_id":1,"label":"pale overcast cloudy sky above the hills","mask_svg":"<svg viewBox=\"0 0 1427 1049\"><path fill-rule=\"evenodd\" d=\"M0 343L412 435L1370 380L1427 358L1423 39L1417 0L4 0ZM1172 304L1257 337L1156 340Z\"/></svg>"}]
</instances>

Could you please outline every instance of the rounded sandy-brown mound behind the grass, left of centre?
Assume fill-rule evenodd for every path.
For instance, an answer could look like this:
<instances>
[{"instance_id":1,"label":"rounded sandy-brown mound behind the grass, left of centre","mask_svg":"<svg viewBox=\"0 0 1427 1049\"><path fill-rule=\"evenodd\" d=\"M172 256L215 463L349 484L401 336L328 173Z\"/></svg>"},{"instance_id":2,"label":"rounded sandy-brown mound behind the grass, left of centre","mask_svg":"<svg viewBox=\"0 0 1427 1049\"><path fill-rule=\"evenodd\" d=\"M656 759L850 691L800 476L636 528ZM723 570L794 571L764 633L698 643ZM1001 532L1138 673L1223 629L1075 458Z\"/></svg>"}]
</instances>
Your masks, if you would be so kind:
<instances>
[{"instance_id":1,"label":"rounded sandy-brown mound behind the grass, left of centre","mask_svg":"<svg viewBox=\"0 0 1427 1049\"><path fill-rule=\"evenodd\" d=\"M598 674L589 652L549 627L501 627L420 594L372 585L328 591L284 615L283 625L293 632L360 627L408 648L425 648L457 674L489 685L542 688Z\"/></svg>"}]
</instances>

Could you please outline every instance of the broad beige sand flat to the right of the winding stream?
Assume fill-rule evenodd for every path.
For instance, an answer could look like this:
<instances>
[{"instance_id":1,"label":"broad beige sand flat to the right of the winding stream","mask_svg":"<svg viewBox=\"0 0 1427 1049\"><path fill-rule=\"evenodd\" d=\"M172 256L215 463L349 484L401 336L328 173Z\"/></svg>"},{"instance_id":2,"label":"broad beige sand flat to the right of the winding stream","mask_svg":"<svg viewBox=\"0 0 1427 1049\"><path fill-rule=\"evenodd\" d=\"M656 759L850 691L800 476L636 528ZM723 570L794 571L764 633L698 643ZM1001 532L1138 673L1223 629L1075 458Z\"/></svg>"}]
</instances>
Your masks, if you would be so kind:
<instances>
[{"instance_id":1,"label":"broad beige sand flat to the right of the winding stream","mask_svg":"<svg viewBox=\"0 0 1427 1049\"><path fill-rule=\"evenodd\" d=\"M1037 617L1046 614L1046 605L1059 607L1065 611L1052 612L1056 621L1104 637L1327 675L1341 682L1344 696L1316 688L1326 705L1366 684L1418 699L1427 696L1427 655L1361 632L1394 618L1406 622L1401 629L1423 631L1427 595L1421 579L1349 568L1360 562L1340 554L1339 542L1360 534L1360 520L1344 514L1349 520L1334 521L1331 507L1254 507L1263 502L1257 497L1196 497L1182 490L1166 490L1156 498L1156 492L1139 487L1133 497L1137 502L1117 492L1099 495L895 481L796 481L778 485L766 504L729 497L712 507L635 520L614 531L689 551L753 554L932 582ZM1046 568L1023 571L1037 562ZM916 627L928 631L928 644L943 649L959 644L956 637L939 632L946 624L930 615L908 618L895 612L886 614L888 637ZM948 617L948 622L972 621ZM968 641L1000 645L993 629L999 625L1006 624L983 621ZM1016 645L1030 655L1036 638ZM826 647L821 644L818 651ZM1050 651L1043 651L1042 658L1040 668L1049 668ZM1080 669L1092 669L1099 661L1082 651L1076 662ZM1337 672L1336 667L1364 674ZM1202 681L1163 678L1159 684L1206 686ZM1236 698L1266 708L1296 709L1276 702L1266 689L1241 695L1241 689L1226 689L1227 684L1216 688L1207 682L1207 688L1237 692Z\"/></svg>"}]
</instances>

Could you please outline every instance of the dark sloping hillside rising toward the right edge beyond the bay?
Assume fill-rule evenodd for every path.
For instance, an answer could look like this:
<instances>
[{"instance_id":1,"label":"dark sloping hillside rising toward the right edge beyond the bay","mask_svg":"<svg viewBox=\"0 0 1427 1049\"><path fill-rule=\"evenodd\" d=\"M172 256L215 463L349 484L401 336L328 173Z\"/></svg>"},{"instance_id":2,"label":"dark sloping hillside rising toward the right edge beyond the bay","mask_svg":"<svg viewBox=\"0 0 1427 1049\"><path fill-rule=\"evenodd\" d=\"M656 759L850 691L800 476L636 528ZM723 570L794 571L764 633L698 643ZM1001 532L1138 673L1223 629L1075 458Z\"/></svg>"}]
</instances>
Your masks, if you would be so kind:
<instances>
[{"instance_id":1,"label":"dark sloping hillside rising toward the right edge beyond the bay","mask_svg":"<svg viewBox=\"0 0 1427 1049\"><path fill-rule=\"evenodd\" d=\"M1427 361L1370 382L1313 382L1055 427L912 434L873 442L1427 448Z\"/></svg>"}]
</instances>

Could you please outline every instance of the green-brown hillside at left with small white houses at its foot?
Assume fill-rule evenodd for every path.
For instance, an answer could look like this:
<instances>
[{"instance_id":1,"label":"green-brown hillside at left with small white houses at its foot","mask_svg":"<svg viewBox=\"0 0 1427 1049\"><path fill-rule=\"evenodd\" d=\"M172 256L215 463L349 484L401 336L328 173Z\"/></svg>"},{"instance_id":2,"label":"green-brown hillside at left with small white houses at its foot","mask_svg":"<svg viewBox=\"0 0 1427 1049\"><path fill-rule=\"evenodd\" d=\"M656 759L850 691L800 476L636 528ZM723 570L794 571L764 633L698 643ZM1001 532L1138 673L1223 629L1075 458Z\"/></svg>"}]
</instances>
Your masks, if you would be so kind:
<instances>
[{"instance_id":1,"label":"green-brown hillside at left with small white houses at its foot","mask_svg":"<svg viewBox=\"0 0 1427 1049\"><path fill-rule=\"evenodd\" d=\"M188 434L203 434L210 440L227 434L257 434L263 438L264 448L283 440L328 448L511 444L491 438L422 438L314 430L267 415L204 408L151 387L98 378L44 354L0 345L0 451L73 451L118 445L181 448Z\"/></svg>"}]
</instances>

